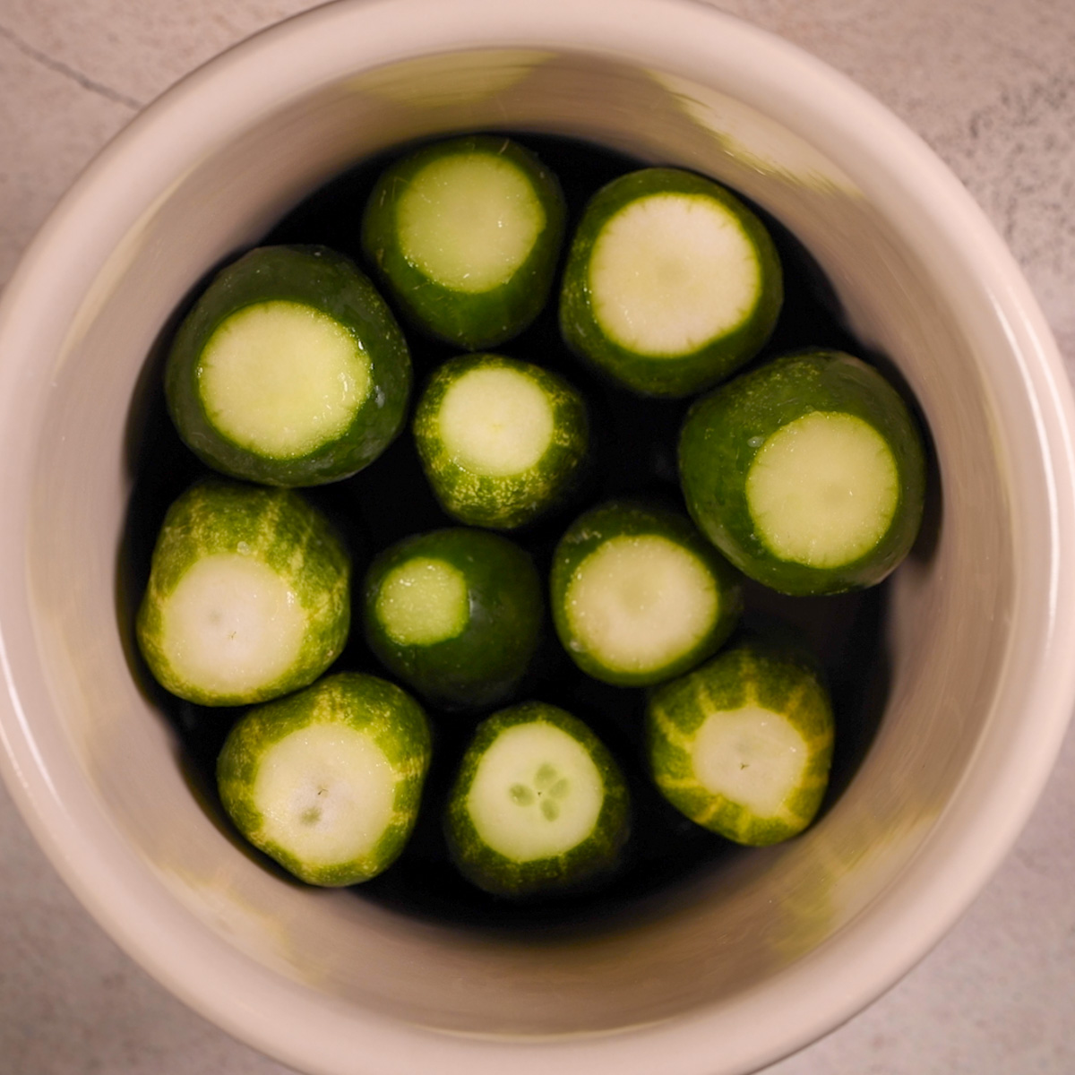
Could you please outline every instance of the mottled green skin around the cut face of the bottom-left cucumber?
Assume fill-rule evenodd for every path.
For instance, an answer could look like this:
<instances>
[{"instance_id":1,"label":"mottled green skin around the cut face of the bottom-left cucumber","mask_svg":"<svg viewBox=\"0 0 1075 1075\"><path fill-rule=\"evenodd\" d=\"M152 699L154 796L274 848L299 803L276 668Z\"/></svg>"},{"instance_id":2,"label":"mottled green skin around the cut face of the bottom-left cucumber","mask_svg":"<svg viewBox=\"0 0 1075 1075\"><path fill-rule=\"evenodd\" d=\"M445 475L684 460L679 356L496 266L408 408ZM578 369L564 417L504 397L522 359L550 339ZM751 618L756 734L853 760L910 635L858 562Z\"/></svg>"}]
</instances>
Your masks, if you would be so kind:
<instances>
[{"instance_id":1,"label":"mottled green skin around the cut face of the bottom-left cucumber","mask_svg":"<svg viewBox=\"0 0 1075 1075\"><path fill-rule=\"evenodd\" d=\"M266 749L312 723L332 721L370 734L393 768L397 819L358 862L311 868L280 845L259 837L261 814L252 789ZM247 712L232 728L217 758L220 800L252 844L310 885L339 887L369 880L400 855L414 830L431 758L429 721L421 706L386 679L358 672L325 676L313 686Z\"/></svg>"}]
</instances>

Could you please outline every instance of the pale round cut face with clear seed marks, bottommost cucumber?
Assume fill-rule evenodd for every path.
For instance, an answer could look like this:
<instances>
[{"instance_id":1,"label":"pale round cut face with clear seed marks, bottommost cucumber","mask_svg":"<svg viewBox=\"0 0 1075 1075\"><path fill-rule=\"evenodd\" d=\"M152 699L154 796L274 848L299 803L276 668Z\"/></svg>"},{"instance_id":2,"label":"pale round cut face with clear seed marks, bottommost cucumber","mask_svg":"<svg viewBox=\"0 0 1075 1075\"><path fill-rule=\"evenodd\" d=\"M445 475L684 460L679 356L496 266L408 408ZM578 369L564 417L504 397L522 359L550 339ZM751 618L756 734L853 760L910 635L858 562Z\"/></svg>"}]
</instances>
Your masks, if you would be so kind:
<instances>
[{"instance_id":1,"label":"pale round cut face with clear seed marks, bottommost cucumber","mask_svg":"<svg viewBox=\"0 0 1075 1075\"><path fill-rule=\"evenodd\" d=\"M485 751L467 797L478 836L514 862L564 855L589 837L604 783L586 748L548 723L505 729Z\"/></svg>"}]
</instances>

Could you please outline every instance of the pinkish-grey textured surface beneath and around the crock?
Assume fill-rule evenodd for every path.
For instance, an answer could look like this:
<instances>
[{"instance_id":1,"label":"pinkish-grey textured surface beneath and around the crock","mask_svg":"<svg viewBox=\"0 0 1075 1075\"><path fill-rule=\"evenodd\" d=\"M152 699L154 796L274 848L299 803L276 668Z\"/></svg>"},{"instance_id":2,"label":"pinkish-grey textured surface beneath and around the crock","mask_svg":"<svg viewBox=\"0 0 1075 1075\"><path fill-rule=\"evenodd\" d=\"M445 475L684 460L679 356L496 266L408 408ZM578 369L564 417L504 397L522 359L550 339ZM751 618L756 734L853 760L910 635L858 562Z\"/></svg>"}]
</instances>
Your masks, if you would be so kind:
<instances>
[{"instance_id":1,"label":"pinkish-grey textured surface beneath and around the crock","mask_svg":"<svg viewBox=\"0 0 1075 1075\"><path fill-rule=\"evenodd\" d=\"M505 0L511 2L511 0ZM309 0L0 0L0 286L83 164L198 63ZM718 0L849 74L1010 244L1075 372L1075 3ZM1075 1072L1075 734L956 929L766 1075ZM715 1043L715 1048L718 1047ZM0 1071L282 1075L108 940L0 790Z\"/></svg>"}]
</instances>

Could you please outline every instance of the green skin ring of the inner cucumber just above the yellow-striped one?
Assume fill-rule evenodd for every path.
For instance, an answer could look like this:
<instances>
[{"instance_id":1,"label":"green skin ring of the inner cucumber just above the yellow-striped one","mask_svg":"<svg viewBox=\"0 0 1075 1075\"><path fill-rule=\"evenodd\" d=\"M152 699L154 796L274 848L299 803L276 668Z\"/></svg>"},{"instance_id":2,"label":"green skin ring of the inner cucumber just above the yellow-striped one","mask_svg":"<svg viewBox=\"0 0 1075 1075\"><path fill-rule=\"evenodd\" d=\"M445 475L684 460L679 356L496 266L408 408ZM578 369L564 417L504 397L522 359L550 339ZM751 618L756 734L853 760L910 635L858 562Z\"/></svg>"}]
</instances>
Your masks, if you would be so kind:
<instances>
[{"instance_id":1,"label":"green skin ring of the inner cucumber just above the yellow-striped one","mask_svg":"<svg viewBox=\"0 0 1075 1075\"><path fill-rule=\"evenodd\" d=\"M677 660L659 672L630 673L606 668L584 650L572 647L567 593L575 569L604 542L621 535L658 534L693 553L713 575L719 606L710 632ZM671 679L704 661L728 640L743 611L742 578L686 516L636 501L599 504L580 515L564 532L553 554L549 573L553 624L564 650L587 675L616 687L644 687Z\"/></svg>"}]
</instances>

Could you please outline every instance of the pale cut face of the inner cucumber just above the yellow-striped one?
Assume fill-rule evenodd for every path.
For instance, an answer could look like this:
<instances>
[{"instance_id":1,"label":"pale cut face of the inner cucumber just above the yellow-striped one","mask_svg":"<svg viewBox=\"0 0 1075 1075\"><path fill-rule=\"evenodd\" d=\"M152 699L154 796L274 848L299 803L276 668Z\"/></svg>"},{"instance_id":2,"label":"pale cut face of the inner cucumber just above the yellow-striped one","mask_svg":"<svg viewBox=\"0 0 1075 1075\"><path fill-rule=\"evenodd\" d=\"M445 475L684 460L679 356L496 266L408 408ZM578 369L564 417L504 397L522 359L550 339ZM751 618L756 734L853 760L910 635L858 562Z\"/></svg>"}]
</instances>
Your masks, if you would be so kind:
<instances>
[{"instance_id":1,"label":"pale cut face of the inner cucumber just above the yellow-striped one","mask_svg":"<svg viewBox=\"0 0 1075 1075\"><path fill-rule=\"evenodd\" d=\"M648 672L713 628L719 596L706 567L657 534L610 539L575 569L565 598L574 645L606 668Z\"/></svg>"}]
</instances>

